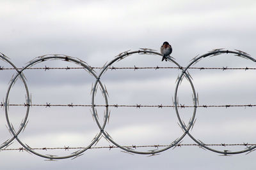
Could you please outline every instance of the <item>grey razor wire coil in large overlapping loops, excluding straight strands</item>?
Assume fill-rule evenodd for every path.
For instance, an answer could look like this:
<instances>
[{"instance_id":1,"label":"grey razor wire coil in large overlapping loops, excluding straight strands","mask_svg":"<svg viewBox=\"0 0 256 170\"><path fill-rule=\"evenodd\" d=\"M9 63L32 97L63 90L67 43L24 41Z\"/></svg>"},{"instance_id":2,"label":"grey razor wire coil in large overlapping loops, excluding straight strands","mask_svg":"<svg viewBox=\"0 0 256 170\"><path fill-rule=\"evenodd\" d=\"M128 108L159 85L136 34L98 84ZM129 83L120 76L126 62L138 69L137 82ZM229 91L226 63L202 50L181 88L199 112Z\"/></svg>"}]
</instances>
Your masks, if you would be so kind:
<instances>
[{"instance_id":1,"label":"grey razor wire coil in large overlapping loops, excluding straight strands","mask_svg":"<svg viewBox=\"0 0 256 170\"><path fill-rule=\"evenodd\" d=\"M10 85L8 87L8 90L6 92L6 98L5 98L5 102L4 102L4 111L5 111L5 116L6 116L6 122L8 124L9 130L12 133L12 138L6 140L1 146L1 148L7 147L10 145L10 143L13 141L13 139L17 139L17 141L20 143L20 145L22 145L26 150L28 150L31 153L34 153L35 155L38 155L40 157L44 157L47 159L67 159L70 157L78 157L79 155L81 155L81 153L83 153L84 151L88 150L89 148L92 147L92 145L97 144L97 142L100 140L101 137L104 137L106 139L108 139L108 141L111 141L111 143L113 143L114 145L116 145L119 148L122 148L122 150L125 150L126 152L131 152L131 153L138 153L138 154L152 154L154 155L155 153L159 153L159 152L163 152L165 150L168 150L169 148L172 148L173 146L177 146L177 144L184 138L184 136L186 136L186 134L188 134L188 136L193 139L199 146L201 146L202 148L205 148L207 150L210 150L212 152L216 152L216 153L222 153L224 155L230 155L230 154L237 154L237 153L244 153L244 152L249 152L252 150L255 150L256 145L255 146L250 146L250 147L246 147L244 150L240 150L240 151L236 151L236 152L232 152L232 151L228 151L228 150L215 150L213 148L210 148L209 146L206 146L202 141L200 141L199 139L195 139L189 132L189 130L191 129L191 127L193 127L193 124L195 123L195 115L196 115L196 108L197 108L197 104L198 102L198 97L196 96L196 90L195 87L193 85L193 82L191 80L191 76L188 73L188 69L189 67L191 67L193 64L196 64L197 62L199 62L201 59L205 58L205 57L213 57L215 55L220 55L223 53L232 53L237 55L238 57L243 57L244 59L249 59L252 60L253 62L256 62L255 59L253 59L252 57L250 57L250 55L248 55L245 52L241 52L239 50L237 50L237 52L235 51L229 51L229 50L222 50L222 49L216 49L213 50L209 53L205 53L204 55L200 55L199 57L195 57L194 59L192 59L192 61L188 64L188 66L186 68L181 67L177 62L175 62L175 60L172 59L172 57L168 57L168 61L173 62L177 67L179 67L179 69L182 71L181 75L178 77L177 83L176 83L176 87L175 87L175 97L174 97L174 106L175 106L175 112L177 115L177 118L179 120L180 126L182 127L182 129L184 130L184 134L182 134L182 136L180 136L180 138L175 139L174 141L172 141L172 143L168 146L166 146L165 148L162 149L158 149L157 150L150 150L148 152L140 152L140 151L136 151L133 150L132 148L128 148L125 146L121 146L118 145L118 143L116 143L108 134L108 132L106 132L105 127L106 127L106 123L108 122L108 118L109 118L109 105L108 105L108 92L106 90L106 87L104 88L104 86L102 85L102 82L100 81L100 78L102 77L102 74L105 73L106 71L108 71L109 68L111 68L111 65L114 64L115 62L118 62L119 60L125 59L125 57L128 57L129 55L135 54L135 53L139 53L142 55L159 55L159 56L163 56L161 55L161 53L155 52L154 50L150 50L147 48L143 48L143 50L136 50L136 51L127 51L127 52L123 52L120 53L118 56L116 56L113 60L111 60L111 62L108 62L108 64L106 64L106 66L104 66L102 68L102 70L99 73L99 76L97 76L97 74L95 74L95 71L92 69L92 67L88 66L88 64L86 64L86 62L83 62L83 60L74 58L74 57L70 57L67 55L44 55L42 57L36 57L35 59L31 60L25 67L22 67L22 69L17 69L17 67L10 62L10 60L8 59L8 57L6 57L5 55L0 54L0 59L3 60L4 62L7 62L8 64L10 64L15 71L17 72L17 74L15 76L13 76L12 80L10 81ZM22 141L20 141L20 139L18 138L20 132L24 131L24 127L26 127L26 124L28 123L28 114L29 114L29 107L31 106L31 99L29 97L29 90L28 90L28 86L26 84L26 78L24 77L24 74L22 73L25 69L34 66L35 64L38 64L39 62L44 62L46 60L64 60L66 62L73 62L74 64L77 64L79 66L83 66L84 70L87 71L88 73L90 73L94 78L95 78L95 83L93 85L93 89L92 89L92 112L93 112L93 117L95 119L95 122L97 123L97 126L99 127L100 132L95 136L95 138L93 138L92 143L90 143L90 145L88 145L86 148L83 148L83 150L79 150L77 152L74 152L70 155L67 156L62 156L62 157L58 157L56 155L42 155L40 153L35 152L35 150L33 150L29 145L26 145L24 143L22 143ZM24 103L24 106L26 106L26 115L24 117L24 119L22 120L19 129L17 130L17 132L14 130L12 123L9 120L8 117L8 97L10 94L10 90L12 89L15 81L17 81L17 78L20 78L20 80L22 80L22 83L24 83L24 87L26 89L26 103ZM184 124L184 122L182 121L182 119L180 118L179 115L179 104L178 104L178 96L177 96L177 92L179 89L179 85L181 84L181 81L183 78L186 78L191 86L191 89L193 90L193 115L191 117L191 119L189 120L188 125ZM100 86L100 90L102 91L103 97L104 97L104 103L106 104L106 110L104 113L104 122L102 125L100 125L99 123L99 118L97 115L97 111L96 111L96 105L95 105L95 96L96 96L96 91L97 91L97 87Z\"/></svg>"}]
</instances>

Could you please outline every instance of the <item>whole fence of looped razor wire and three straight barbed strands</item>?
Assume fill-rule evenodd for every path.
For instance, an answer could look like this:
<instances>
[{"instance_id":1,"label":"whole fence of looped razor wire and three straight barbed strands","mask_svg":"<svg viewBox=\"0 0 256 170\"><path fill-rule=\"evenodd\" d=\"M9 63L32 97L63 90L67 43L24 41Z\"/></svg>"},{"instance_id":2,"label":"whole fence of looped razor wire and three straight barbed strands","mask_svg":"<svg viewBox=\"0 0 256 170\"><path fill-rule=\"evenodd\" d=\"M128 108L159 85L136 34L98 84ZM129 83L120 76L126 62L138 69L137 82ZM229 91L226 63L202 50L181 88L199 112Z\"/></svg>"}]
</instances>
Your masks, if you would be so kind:
<instances>
[{"instance_id":1,"label":"whole fence of looped razor wire and three straight barbed strands","mask_svg":"<svg viewBox=\"0 0 256 170\"><path fill-rule=\"evenodd\" d=\"M234 55L236 55L237 57L242 57L243 59L248 59L248 60L252 60L252 62L256 62L255 59L253 59L252 57L250 57L250 55L248 55L248 53L246 52L242 52L241 50L236 50L236 51L230 51L230 50L223 50L221 49L214 49L208 53L205 53L204 55L200 55L200 56L196 56L195 58L193 58L191 60L191 62L189 63L189 65L187 67L182 67L180 66L175 60L173 60L172 57L168 57L168 61L172 62L173 64L175 64L175 67L114 67L112 66L113 64L115 64L115 62L118 62L119 60L123 60L126 57L134 54L134 53L138 53L138 54L142 54L142 55L161 55L161 53L156 52L155 50L151 50L148 48L141 48L140 50L137 51L126 51L126 52L122 52L119 55L117 55L113 60L111 60L111 62L106 63L103 67L92 67L89 66L86 62L84 62L83 60L74 58L74 57L70 57L67 55L44 55L41 57L36 57L35 59L31 60L28 62L28 64L25 67L16 67L10 60L8 57L6 57L5 55L0 55L0 59L3 60L4 62L7 62L8 64L10 64L12 67L3 67L0 66L0 71L7 71L7 70L15 70L17 72L17 74L15 76L13 76L13 78L10 81L10 85L8 87L8 90L6 92L6 98L5 101L1 102L0 106L1 108L4 108L5 111L5 115L6 115L6 122L8 124L8 131L10 131L10 133L12 134L13 138L12 139L8 139L6 140L2 145L0 145L0 151L10 151L10 150L18 150L18 151L27 151L29 153L34 153L35 155L38 155L40 157L44 157L50 160L53 159L67 159L70 157L76 158L79 157L80 155L83 155L82 153L88 149L97 149L97 148L108 148L109 150L111 150L112 148L121 148L122 150L124 150L124 152L127 153L138 153L138 154L147 154L147 155L156 155L159 154L160 152L163 152L165 150L168 150L170 148L175 148L177 146L199 146L200 148L204 148L207 150L210 150L212 152L216 152L216 153L221 153L223 155L232 155L232 154L237 154L237 153L250 153L254 150L256 150L256 144L252 144L252 143L236 143L236 144L225 144L225 143L221 143L221 144L205 144L202 141L200 141L199 139L195 139L191 133L189 132L189 130L193 129L193 125L195 124L195 115L196 115L196 108L231 108L231 107L255 107L256 104L221 104L221 105L199 105L198 104L198 94L196 94L195 92L195 87L193 85L193 81L191 80L191 75L189 74L188 70L189 69L199 69L199 70L205 70L205 69L216 69L216 70L255 70L256 67L191 67L194 64L196 64L197 62L199 62L201 59L204 59L205 57L214 57L216 55L221 55L223 53L232 53ZM40 63L40 62L45 62L46 60L64 60L66 62L72 62L74 64L77 64L78 67L33 67L36 64ZM46 103L46 104L35 104L31 102L31 96L29 96L29 91L28 91L28 86L26 84L26 78L24 76L23 71L26 69L42 69L44 71L50 70L50 69L62 69L62 70L70 70L70 69L84 69L86 70L88 73L90 73L94 78L95 78L95 83L92 86L92 104L51 104L51 103ZM96 74L95 69L99 69L100 73ZM108 91L106 89L106 86L102 85L100 78L102 77L102 75L108 71L108 70L117 70L117 69L133 69L138 70L138 69L180 69L182 71L182 74L180 76L178 76L177 81L176 81L176 87L175 87L175 97L173 99L173 104L172 105L164 105L164 104L154 104L154 105L150 105L150 104L109 104L108 103ZM26 89L26 102L23 104L13 104L13 103L9 103L9 94L10 94L10 89L12 89L13 85L15 84L15 81L17 81L17 78L20 78L20 80L22 80L22 83L24 83L24 87ZM186 78L190 85L191 85L191 89L193 90L193 106L188 106L185 104L180 104L179 103L179 99L177 97L177 91L179 90L179 85L182 82L183 78ZM98 87L100 87L100 90L102 92L102 96L104 97L104 101L105 104L95 104L95 95L96 95L96 91L98 89ZM8 117L8 108L9 106L24 106L27 108L26 111L26 116L24 117L24 119L22 120L21 124L20 124L20 128L18 131L15 131L15 129L13 128L12 123L9 120ZM22 141L19 139L19 134L21 131L24 131L26 125L28 124L28 114L29 114L29 108L31 106L41 106L41 107L45 107L45 108L51 108L51 107L89 107L92 108L92 115L93 118L95 119L95 122L97 123L100 132L95 136L95 138L93 138L92 143L90 143L90 145L86 146L86 147L69 147L69 146L65 146L65 147L57 147L57 148L51 148L51 147L45 147L45 148L31 148L30 146L22 143ZM104 112L104 123L100 124L99 123L99 117L97 114L97 107L103 107L105 108L105 112ZM184 131L184 134L182 134L182 136L180 136L180 138L175 139L170 145L131 145L131 146L122 146L119 145L118 143L116 143L111 136L108 134L108 132L105 131L105 126L106 126L106 122L108 122L109 120L109 108L175 108L175 111L177 113L177 117L179 119L179 126L182 129L182 131ZM179 116L179 109L181 108L193 108L193 116L191 117L191 119L189 120L188 125L186 125L184 123L183 120L181 120L180 116ZM6 126L7 127L7 126ZM191 139L193 139L193 141L195 141L194 144L182 144L182 139L184 138L184 136L189 136ZM109 145L109 146L95 146L97 145L97 143L99 142L99 140L101 138L105 138L107 141L113 143L113 145ZM10 146L13 143L13 140L16 139L20 145L22 147L20 148L8 148L8 146ZM94 145L94 146L93 146ZM244 148L243 150L239 150L239 151L229 151L229 150L216 150L214 148L212 148L211 146L246 146L246 148ZM147 148L147 147L153 147L156 148L154 150L149 150L147 152L141 152L136 150L136 148ZM77 150L79 149L77 152L71 153L70 155L67 156L61 156L58 157L56 155L43 155L42 153L38 153L36 152L36 150Z\"/></svg>"}]
</instances>

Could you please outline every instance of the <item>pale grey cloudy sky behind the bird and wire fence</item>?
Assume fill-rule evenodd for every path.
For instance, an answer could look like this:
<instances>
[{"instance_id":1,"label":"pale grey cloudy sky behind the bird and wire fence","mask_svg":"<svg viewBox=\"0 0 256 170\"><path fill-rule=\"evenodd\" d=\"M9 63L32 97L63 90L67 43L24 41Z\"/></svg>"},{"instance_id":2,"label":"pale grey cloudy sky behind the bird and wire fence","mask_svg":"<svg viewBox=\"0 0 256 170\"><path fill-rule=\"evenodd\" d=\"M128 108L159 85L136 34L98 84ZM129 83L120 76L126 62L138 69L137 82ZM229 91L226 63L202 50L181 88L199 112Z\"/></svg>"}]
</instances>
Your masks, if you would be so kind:
<instances>
[{"instance_id":1,"label":"pale grey cloudy sky behind the bird and wire fence","mask_svg":"<svg viewBox=\"0 0 256 170\"><path fill-rule=\"evenodd\" d=\"M172 56L187 66L189 60L213 48L239 49L255 58L255 1L3 1L0 0L0 52L17 67L52 53L70 55L93 67L103 66L125 50L159 50L163 41L173 46ZM131 55L113 66L175 66L161 62L157 55ZM0 66L10 65L0 60ZM60 60L41 62L35 67L76 66ZM198 62L198 67L255 67L250 60L234 55L218 55ZM99 74L99 69L96 69ZM1 101L6 95L13 71L0 71ZM199 95L199 104L256 104L254 70L189 70ZM32 104L90 104L95 82L84 70L26 70ZM172 105L177 69L109 70L102 83L109 104ZM179 89L179 103L192 105L192 91L186 80ZM97 102L104 103L100 91ZM24 103L20 81L10 93L10 103ZM100 121L103 108L97 109ZM120 145L168 145L183 132L173 108L110 108L106 131ZM10 107L10 120L16 129L26 108ZM191 109L180 114L188 123ZM0 142L11 138L0 112ZM255 143L255 108L198 108L191 134L207 144ZM33 148L88 146L99 132L90 108L32 107L29 123L19 135ZM185 136L182 143L195 143ZM109 146L101 139L96 146ZM9 148L19 148L17 141ZM214 147L243 150L244 146ZM147 151L153 148L137 148ZM42 154L68 155L76 150L39 150ZM1 151L3 169L252 169L255 152L232 157L182 146L155 157L130 155L121 149L92 149L77 159L44 161L42 157L19 151ZM245 167L245 168L244 168Z\"/></svg>"}]
</instances>

